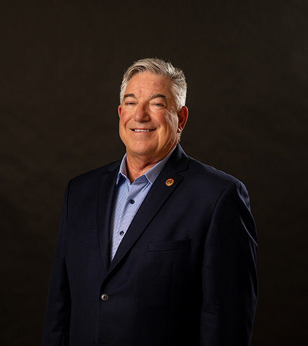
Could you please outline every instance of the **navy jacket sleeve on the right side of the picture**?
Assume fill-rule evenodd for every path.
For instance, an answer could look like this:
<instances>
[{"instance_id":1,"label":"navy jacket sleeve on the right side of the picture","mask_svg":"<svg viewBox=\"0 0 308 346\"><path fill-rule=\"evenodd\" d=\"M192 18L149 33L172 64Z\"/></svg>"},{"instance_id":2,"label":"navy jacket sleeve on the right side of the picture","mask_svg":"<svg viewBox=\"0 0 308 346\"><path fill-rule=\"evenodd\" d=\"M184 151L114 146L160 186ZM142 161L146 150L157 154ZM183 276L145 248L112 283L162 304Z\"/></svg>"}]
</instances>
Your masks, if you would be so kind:
<instances>
[{"instance_id":1,"label":"navy jacket sleeve on the right side of the picture","mask_svg":"<svg viewBox=\"0 0 308 346\"><path fill-rule=\"evenodd\" d=\"M202 346L248 346L257 305L257 233L246 187L217 201L204 245Z\"/></svg>"}]
</instances>

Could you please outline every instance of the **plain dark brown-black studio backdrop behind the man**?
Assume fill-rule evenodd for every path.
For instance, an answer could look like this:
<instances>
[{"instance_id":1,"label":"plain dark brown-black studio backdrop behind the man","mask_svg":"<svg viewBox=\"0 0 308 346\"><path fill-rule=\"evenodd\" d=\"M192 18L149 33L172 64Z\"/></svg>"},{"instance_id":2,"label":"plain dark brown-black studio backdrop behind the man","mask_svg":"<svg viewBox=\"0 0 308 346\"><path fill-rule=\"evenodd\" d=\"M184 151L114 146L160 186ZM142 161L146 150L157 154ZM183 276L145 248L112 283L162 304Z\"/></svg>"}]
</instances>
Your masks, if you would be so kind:
<instances>
[{"instance_id":1,"label":"plain dark brown-black studio backdrop behind the man","mask_svg":"<svg viewBox=\"0 0 308 346\"><path fill-rule=\"evenodd\" d=\"M121 158L121 75L152 56L187 74L187 154L250 192L260 279L252 345L307 342L307 1L0 6L3 345L39 345L65 185Z\"/></svg>"}]
</instances>

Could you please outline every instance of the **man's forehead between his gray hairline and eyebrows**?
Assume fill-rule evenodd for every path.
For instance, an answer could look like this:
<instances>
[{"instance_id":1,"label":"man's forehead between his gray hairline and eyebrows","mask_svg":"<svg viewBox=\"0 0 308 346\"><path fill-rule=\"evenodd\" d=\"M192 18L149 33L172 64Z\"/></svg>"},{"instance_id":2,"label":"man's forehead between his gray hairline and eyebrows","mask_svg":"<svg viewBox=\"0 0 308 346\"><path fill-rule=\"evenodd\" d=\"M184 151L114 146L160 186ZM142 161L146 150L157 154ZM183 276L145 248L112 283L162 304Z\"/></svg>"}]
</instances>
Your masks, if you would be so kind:
<instances>
[{"instance_id":1,"label":"man's forehead between his gray hairline and eyebrows","mask_svg":"<svg viewBox=\"0 0 308 346\"><path fill-rule=\"evenodd\" d=\"M135 74L126 86L125 93L134 93L135 96L152 93L165 93L166 96L171 96L172 81L166 76L159 76L151 72L142 72Z\"/></svg>"}]
</instances>

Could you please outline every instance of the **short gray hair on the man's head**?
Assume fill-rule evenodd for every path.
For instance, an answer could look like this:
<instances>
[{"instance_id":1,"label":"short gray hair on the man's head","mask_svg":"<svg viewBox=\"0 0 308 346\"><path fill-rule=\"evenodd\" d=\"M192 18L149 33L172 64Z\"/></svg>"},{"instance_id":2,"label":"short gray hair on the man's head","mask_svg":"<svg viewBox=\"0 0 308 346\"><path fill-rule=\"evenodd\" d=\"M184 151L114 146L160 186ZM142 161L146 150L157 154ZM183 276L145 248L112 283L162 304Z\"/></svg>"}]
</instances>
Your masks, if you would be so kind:
<instances>
[{"instance_id":1,"label":"short gray hair on the man's head","mask_svg":"<svg viewBox=\"0 0 308 346\"><path fill-rule=\"evenodd\" d=\"M174 67L170 62L158 58L137 60L133 62L133 65L126 69L121 84L120 103L123 100L128 81L130 81L135 74L140 74L142 72L151 72L152 74L170 78L172 81L172 91L177 110L179 111L183 106L185 106L187 83L184 72L182 72L182 69Z\"/></svg>"}]
</instances>

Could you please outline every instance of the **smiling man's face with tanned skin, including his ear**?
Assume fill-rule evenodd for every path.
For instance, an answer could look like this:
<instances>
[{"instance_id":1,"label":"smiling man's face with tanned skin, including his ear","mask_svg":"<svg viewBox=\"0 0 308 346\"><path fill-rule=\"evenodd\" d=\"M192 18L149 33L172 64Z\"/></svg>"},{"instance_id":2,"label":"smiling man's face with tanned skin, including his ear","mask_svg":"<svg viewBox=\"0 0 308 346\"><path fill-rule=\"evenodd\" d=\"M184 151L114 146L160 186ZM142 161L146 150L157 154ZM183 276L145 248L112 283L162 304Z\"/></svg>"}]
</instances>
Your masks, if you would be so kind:
<instances>
[{"instance_id":1,"label":"smiling man's face with tanned skin, including his ear","mask_svg":"<svg viewBox=\"0 0 308 346\"><path fill-rule=\"evenodd\" d=\"M187 121L187 108L177 112L168 77L135 74L119 105L119 133L130 159L154 164L178 142Z\"/></svg>"}]
</instances>

